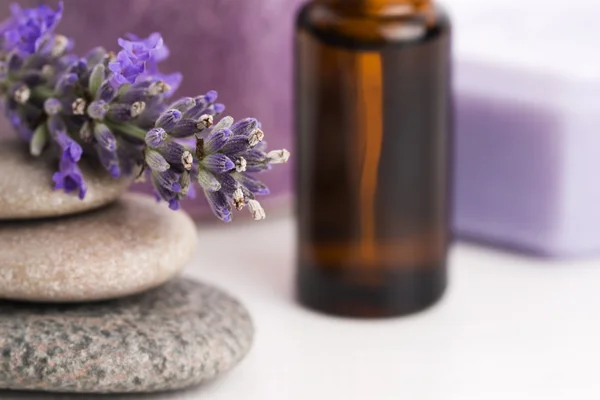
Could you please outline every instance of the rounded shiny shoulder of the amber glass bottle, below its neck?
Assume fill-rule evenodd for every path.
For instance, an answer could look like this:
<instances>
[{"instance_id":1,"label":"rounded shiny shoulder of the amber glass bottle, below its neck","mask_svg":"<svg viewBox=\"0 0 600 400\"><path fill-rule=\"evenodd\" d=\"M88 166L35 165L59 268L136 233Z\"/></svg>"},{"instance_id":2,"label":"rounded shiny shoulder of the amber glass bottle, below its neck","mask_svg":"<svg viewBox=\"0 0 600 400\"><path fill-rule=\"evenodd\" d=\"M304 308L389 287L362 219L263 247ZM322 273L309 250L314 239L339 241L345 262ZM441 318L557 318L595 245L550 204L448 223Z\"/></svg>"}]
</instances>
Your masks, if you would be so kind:
<instances>
[{"instance_id":1,"label":"rounded shiny shoulder of the amber glass bottle, below its neck","mask_svg":"<svg viewBox=\"0 0 600 400\"><path fill-rule=\"evenodd\" d=\"M378 16L343 13L310 2L298 11L296 28L332 45L368 49L432 40L449 35L451 25L439 6Z\"/></svg>"}]
</instances>

